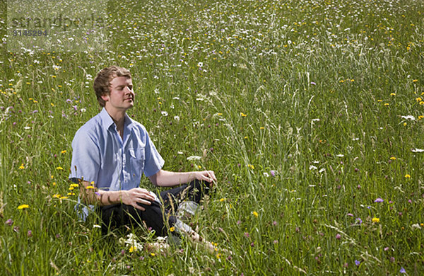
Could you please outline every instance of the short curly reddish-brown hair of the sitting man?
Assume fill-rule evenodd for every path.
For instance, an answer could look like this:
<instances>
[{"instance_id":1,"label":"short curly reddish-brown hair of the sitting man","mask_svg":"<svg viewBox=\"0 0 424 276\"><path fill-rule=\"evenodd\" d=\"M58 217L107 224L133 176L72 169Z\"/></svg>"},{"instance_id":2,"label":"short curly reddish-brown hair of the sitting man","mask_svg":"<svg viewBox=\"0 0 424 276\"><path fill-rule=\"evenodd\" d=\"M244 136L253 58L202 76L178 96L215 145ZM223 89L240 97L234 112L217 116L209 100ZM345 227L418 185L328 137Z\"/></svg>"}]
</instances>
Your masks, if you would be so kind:
<instances>
[{"instance_id":1,"label":"short curly reddish-brown hair of the sitting man","mask_svg":"<svg viewBox=\"0 0 424 276\"><path fill-rule=\"evenodd\" d=\"M117 67L112 65L99 71L98 75L94 79L93 88L95 96L97 96L98 102L102 108L105 107L105 100L102 96L109 95L110 93L110 81L117 76L126 76L131 79L131 73L124 67Z\"/></svg>"}]
</instances>

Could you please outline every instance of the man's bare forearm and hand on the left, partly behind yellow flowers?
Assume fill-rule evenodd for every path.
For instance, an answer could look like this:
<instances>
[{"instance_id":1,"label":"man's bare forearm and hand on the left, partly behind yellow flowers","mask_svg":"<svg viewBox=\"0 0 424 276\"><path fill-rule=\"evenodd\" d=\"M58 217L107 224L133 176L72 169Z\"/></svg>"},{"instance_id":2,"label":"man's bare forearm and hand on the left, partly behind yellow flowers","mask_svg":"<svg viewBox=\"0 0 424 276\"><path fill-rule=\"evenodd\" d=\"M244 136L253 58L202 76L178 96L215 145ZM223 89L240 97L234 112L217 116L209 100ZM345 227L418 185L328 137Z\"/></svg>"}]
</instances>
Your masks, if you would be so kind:
<instances>
[{"instance_id":1,"label":"man's bare forearm and hand on the left, partly behind yellow flowers","mask_svg":"<svg viewBox=\"0 0 424 276\"><path fill-rule=\"evenodd\" d=\"M123 203L125 205L131 205L136 209L144 211L145 209L139 205L151 205L151 202L155 200L155 197L151 193L142 188L133 188L131 190L118 190L118 191L105 191L98 190L93 187L88 181L81 181L80 186L80 196L86 204L91 205L114 205L118 203Z\"/></svg>"}]
</instances>

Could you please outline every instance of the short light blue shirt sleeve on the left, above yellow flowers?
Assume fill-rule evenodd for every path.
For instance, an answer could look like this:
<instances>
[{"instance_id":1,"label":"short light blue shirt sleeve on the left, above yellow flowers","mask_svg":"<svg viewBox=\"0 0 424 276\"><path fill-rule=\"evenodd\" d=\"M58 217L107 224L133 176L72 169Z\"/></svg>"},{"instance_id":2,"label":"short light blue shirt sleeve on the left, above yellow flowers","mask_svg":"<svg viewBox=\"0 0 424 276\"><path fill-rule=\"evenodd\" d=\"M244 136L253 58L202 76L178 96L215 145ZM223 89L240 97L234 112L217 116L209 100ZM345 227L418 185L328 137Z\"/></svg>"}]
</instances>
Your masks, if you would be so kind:
<instances>
[{"instance_id":1,"label":"short light blue shirt sleeve on the left, above yellow flowers","mask_svg":"<svg viewBox=\"0 0 424 276\"><path fill-rule=\"evenodd\" d=\"M78 130L72 141L72 162L69 179L73 183L79 180L98 182L98 172L101 166L98 143L88 132Z\"/></svg>"}]
</instances>

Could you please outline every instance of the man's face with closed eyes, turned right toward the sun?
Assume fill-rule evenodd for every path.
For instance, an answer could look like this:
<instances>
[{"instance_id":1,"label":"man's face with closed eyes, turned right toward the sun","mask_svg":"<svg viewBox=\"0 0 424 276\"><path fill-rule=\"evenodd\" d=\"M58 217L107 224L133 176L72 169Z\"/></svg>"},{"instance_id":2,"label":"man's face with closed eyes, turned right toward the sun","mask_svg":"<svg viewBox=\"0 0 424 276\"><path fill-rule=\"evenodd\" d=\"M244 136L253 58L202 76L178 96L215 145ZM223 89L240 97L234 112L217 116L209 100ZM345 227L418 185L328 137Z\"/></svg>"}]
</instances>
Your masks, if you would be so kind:
<instances>
[{"instance_id":1,"label":"man's face with closed eyes, turned right toward the sun","mask_svg":"<svg viewBox=\"0 0 424 276\"><path fill-rule=\"evenodd\" d=\"M109 95L102 96L107 111L126 111L134 106L134 91L131 79L126 76L115 76L110 81Z\"/></svg>"}]
</instances>

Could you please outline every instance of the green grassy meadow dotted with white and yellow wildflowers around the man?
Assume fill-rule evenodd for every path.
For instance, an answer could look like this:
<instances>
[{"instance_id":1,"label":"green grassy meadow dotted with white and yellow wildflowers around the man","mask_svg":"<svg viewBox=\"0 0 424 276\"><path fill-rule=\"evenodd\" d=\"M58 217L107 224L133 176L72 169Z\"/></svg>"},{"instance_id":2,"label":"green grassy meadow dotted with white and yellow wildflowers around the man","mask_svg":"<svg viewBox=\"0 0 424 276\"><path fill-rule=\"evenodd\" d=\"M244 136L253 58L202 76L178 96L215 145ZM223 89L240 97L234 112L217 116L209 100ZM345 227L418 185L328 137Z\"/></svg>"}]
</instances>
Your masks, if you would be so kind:
<instances>
[{"instance_id":1,"label":"green grassy meadow dotted with white and yellow wildflowers around the man","mask_svg":"<svg viewBox=\"0 0 424 276\"><path fill-rule=\"evenodd\" d=\"M423 1L110 1L78 52L9 51L0 3L0 275L423 275ZM192 223L232 254L78 220L71 142L112 64L164 169L215 171Z\"/></svg>"}]
</instances>

